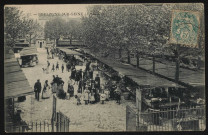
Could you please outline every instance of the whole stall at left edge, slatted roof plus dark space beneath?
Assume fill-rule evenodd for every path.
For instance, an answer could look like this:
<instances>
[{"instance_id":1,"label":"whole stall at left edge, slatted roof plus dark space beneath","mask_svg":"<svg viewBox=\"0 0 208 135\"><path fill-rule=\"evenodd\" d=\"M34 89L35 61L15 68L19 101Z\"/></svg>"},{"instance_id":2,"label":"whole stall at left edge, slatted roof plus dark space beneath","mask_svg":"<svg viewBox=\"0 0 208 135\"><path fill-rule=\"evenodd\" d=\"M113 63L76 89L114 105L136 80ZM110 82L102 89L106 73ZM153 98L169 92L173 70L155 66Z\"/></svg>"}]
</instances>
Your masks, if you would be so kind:
<instances>
[{"instance_id":1,"label":"whole stall at left edge, slatted roof plus dark space beneath","mask_svg":"<svg viewBox=\"0 0 208 135\"><path fill-rule=\"evenodd\" d=\"M14 124L14 98L33 94L27 78L22 72L14 53L6 49L4 58L4 100L5 100L5 130L10 131Z\"/></svg>"}]
</instances>

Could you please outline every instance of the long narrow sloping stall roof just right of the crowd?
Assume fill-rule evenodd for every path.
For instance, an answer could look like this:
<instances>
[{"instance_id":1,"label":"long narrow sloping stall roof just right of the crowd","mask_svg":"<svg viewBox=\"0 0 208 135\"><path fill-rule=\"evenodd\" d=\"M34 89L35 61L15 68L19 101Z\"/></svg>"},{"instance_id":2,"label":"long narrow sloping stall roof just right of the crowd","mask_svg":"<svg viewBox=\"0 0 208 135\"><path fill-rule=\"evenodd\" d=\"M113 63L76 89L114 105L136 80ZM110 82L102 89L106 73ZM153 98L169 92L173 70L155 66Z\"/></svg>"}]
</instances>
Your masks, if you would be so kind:
<instances>
[{"instance_id":1,"label":"long narrow sloping stall roof just right of the crowd","mask_svg":"<svg viewBox=\"0 0 208 135\"><path fill-rule=\"evenodd\" d=\"M86 53L90 53L89 49L83 49ZM152 87L183 87L174 82L152 75L141 69L134 68L131 65L120 63L116 60L108 58L96 57L102 63L107 64L115 71L132 79L138 85L150 85Z\"/></svg>"}]
</instances>

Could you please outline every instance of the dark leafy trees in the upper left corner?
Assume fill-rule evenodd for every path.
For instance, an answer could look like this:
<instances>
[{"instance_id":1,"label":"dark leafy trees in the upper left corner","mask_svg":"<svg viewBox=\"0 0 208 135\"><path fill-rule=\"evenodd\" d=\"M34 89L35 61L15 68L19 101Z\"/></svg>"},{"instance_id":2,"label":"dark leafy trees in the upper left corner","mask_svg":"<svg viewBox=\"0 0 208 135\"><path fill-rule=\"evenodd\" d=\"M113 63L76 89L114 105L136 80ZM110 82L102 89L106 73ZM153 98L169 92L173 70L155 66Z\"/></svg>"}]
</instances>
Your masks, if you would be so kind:
<instances>
[{"instance_id":1,"label":"dark leafy trees in the upper left corner","mask_svg":"<svg viewBox=\"0 0 208 135\"><path fill-rule=\"evenodd\" d=\"M5 7L4 9L4 35L6 45L13 47L15 41L29 37L29 42L38 36L41 30L38 22L26 17L17 7Z\"/></svg>"}]
</instances>

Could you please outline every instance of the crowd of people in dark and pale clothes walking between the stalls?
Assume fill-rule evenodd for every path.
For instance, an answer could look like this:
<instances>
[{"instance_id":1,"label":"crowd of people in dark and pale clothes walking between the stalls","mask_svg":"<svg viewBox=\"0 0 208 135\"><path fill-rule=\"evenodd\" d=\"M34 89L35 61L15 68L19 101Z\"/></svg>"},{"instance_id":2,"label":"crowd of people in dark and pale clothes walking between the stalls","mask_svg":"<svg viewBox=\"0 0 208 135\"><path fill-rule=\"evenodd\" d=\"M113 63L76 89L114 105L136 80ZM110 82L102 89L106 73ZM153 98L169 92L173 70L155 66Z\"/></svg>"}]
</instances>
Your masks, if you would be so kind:
<instances>
[{"instance_id":1,"label":"crowd of people in dark and pale clothes walking between the stalls","mask_svg":"<svg viewBox=\"0 0 208 135\"><path fill-rule=\"evenodd\" d=\"M51 52L51 51L50 51ZM47 54L49 55L49 51L47 49ZM66 62L66 71L71 72L68 80L68 89L64 91L64 81L62 78L58 77L58 75L53 75L53 80L48 84L48 80L45 81L43 90L42 90L42 98L47 99L50 97L50 91L52 93L56 93L56 96L60 99L70 99L75 97L77 99L77 105L82 104L82 100L84 104L95 104L100 102L104 104L105 101L116 100L117 103L120 104L121 100L121 91L117 87L115 82L112 82L111 79L108 80L105 84L101 84L100 75L96 74L93 76L94 70L98 68L92 67L91 60L87 60L86 57L83 58L83 61L86 61L85 70L76 69L77 60L74 56L66 57L61 52L52 51L52 58L58 56L60 60ZM47 61L47 69L46 73L49 72L50 67L49 60ZM59 70L59 63L52 64L51 72L55 70ZM64 64L61 66L62 73L64 72ZM77 93L75 94L74 86L78 85ZM35 97L39 100L39 95L41 93L41 83L40 80L37 80L34 86Z\"/></svg>"}]
</instances>

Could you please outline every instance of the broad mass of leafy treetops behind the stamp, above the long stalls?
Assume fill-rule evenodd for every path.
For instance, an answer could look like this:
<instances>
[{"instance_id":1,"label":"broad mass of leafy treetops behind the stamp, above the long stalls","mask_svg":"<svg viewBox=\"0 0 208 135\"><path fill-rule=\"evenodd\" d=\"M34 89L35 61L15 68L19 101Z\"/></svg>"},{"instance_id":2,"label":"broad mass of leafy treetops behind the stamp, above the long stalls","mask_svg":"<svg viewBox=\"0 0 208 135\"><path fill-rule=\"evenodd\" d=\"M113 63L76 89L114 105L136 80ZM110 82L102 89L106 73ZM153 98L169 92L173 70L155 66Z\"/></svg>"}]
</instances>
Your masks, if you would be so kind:
<instances>
[{"instance_id":1,"label":"broad mass of leafy treetops behind the stamp, above the long stalls","mask_svg":"<svg viewBox=\"0 0 208 135\"><path fill-rule=\"evenodd\" d=\"M118 50L119 57L122 50L128 54L130 50L151 55L173 53L176 48L168 44L172 10L199 11L202 14L201 18L204 14L202 4L91 6L88 8L89 16L82 18L83 39L94 50ZM200 46L204 46L202 25L203 20L199 33ZM182 47L181 52L185 50L187 47ZM200 52L200 49L195 51ZM185 54L190 53L187 54L186 51Z\"/></svg>"}]
</instances>

